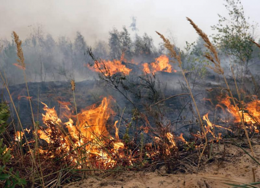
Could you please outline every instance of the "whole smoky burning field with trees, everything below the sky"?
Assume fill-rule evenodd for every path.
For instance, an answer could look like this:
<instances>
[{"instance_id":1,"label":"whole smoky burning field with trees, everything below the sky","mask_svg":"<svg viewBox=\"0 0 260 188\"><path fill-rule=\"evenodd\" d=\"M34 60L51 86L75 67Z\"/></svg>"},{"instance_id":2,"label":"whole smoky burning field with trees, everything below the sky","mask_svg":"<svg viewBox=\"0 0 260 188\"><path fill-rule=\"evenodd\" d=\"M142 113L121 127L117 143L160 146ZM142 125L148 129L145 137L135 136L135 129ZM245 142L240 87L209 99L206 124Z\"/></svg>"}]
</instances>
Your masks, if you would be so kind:
<instances>
[{"instance_id":1,"label":"whole smoky burning field with trees, everything below the sky","mask_svg":"<svg viewBox=\"0 0 260 188\"><path fill-rule=\"evenodd\" d=\"M239 2L210 37L187 17L185 51L126 27L93 48L1 40L0 187L259 187L260 45Z\"/></svg>"}]
</instances>

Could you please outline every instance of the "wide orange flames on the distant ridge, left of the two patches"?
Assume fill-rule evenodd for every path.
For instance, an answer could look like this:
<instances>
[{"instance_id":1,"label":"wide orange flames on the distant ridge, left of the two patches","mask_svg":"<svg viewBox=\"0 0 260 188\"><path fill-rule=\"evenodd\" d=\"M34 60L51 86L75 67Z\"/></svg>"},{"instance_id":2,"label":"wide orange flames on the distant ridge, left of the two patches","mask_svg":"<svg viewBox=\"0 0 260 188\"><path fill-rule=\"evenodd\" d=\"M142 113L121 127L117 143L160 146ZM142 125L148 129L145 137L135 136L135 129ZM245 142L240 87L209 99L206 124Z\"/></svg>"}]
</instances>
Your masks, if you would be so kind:
<instances>
[{"instance_id":1,"label":"wide orange flames on the distant ridge, left of the two patches","mask_svg":"<svg viewBox=\"0 0 260 188\"><path fill-rule=\"evenodd\" d=\"M112 76L115 73L124 73L124 75L128 75L132 69L127 68L125 65L122 64L122 61L126 61L124 59L124 53L121 55L120 60L113 59L110 60L101 60L97 62L98 65L94 65L93 67L88 66L90 69L94 70L95 72L102 72L106 76Z\"/></svg>"}]
</instances>

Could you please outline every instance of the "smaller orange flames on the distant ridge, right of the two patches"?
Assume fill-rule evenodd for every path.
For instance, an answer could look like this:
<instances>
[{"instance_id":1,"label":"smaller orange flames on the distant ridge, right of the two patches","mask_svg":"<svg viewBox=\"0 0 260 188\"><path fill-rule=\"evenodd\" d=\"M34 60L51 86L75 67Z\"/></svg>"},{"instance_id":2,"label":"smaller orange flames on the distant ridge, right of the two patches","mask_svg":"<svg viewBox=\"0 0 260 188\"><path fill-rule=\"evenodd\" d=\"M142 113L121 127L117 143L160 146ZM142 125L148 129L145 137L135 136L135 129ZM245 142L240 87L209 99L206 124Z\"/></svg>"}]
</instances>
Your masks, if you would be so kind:
<instances>
[{"instance_id":1,"label":"smaller orange flames on the distant ridge, right of the two patches","mask_svg":"<svg viewBox=\"0 0 260 188\"><path fill-rule=\"evenodd\" d=\"M169 58L166 55L161 55L158 58L155 58L155 61L152 62L150 66L148 63L143 63L144 73L156 73L157 71L168 73L177 72L169 63Z\"/></svg>"}]
</instances>

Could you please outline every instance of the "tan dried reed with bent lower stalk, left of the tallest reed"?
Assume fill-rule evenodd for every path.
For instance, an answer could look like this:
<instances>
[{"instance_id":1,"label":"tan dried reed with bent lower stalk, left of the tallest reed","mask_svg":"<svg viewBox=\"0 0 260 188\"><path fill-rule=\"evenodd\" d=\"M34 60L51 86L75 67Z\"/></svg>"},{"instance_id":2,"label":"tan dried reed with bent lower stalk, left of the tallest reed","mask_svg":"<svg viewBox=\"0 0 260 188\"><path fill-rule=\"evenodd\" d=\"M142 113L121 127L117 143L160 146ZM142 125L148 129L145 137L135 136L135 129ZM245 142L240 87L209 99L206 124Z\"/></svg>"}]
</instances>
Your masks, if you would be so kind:
<instances>
[{"instance_id":1,"label":"tan dried reed with bent lower stalk, left of the tallest reed","mask_svg":"<svg viewBox=\"0 0 260 188\"><path fill-rule=\"evenodd\" d=\"M183 75L183 77L184 77L184 79L185 79L185 81L186 81L186 84L187 84L187 87L188 87L188 89L189 89L189 92L190 92L192 101L193 101L193 103L194 103L194 106L195 106L195 108L196 108L196 111L197 111L197 114L198 114L198 117L199 117L199 122L200 122L201 130L202 130L203 133L204 133L205 142L206 142L206 143L205 143L205 146L204 146L204 148L203 148L203 150L202 150L202 152L201 152L201 155L199 156L199 163L198 163L198 168L199 168L199 164L200 164L201 157L202 157L203 152L204 152L204 150L205 150L205 148L206 148L206 146L207 146L207 144L208 144L208 140L207 140L207 136L206 136L206 131L205 131L204 126L203 126L202 118L201 118L201 116L200 116L199 109L198 109L198 107L197 107L197 104L196 104L196 101L195 101L195 99L194 99L194 96L193 96L193 94L192 94L192 92L191 92L191 88L190 88L190 85L189 85L189 83L188 83L188 80L187 80L187 78L186 78L186 76L185 76L185 73L184 73L182 67L181 67L182 62L181 62L180 54L177 55L176 51L174 50L174 45L170 43L169 39L166 39L161 33L157 32L157 31L156 31L156 33L162 38L162 40L163 40L163 42L164 42L164 46L170 51L169 55L170 55L172 58L177 59L177 61L178 61L178 63L179 63L180 70L181 70L182 75Z\"/></svg>"}]
</instances>

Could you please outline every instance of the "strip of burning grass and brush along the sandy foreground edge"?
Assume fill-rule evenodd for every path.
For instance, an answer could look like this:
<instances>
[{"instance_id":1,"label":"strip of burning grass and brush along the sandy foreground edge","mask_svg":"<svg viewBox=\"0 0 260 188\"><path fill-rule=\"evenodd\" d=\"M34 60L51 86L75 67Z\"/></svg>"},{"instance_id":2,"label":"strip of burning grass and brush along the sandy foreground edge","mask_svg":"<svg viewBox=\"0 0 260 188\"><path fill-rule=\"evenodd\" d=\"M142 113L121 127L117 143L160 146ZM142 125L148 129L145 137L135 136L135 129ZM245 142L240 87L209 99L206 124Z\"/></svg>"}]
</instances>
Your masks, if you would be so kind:
<instances>
[{"instance_id":1,"label":"strip of burning grass and brush along the sandy foreground edge","mask_svg":"<svg viewBox=\"0 0 260 188\"><path fill-rule=\"evenodd\" d=\"M225 137L227 132L230 136L237 135L235 132L239 130L240 124L236 122L236 113L232 113L234 107L230 104L229 97L220 97L217 100L219 104L216 105L216 108L221 109L221 111L224 110L224 113L229 113L232 116L232 124L237 125L237 127L231 126L231 124L228 127L216 125L210 121L209 113L203 115L205 132L210 143L221 142L222 135ZM12 162L9 165L13 165L16 161L17 167L24 165L24 170L28 171L30 165L33 164L28 144L24 142L25 137L32 138L28 140L29 145L39 156L39 161L43 166L41 170L45 183L50 184L51 180L57 178L58 172L61 173L59 175L62 178L60 183L65 183L80 179L84 175L103 176L113 171L127 170L149 169L150 171L162 165L166 166L168 172L179 170L178 161L187 157L187 152L193 153L196 150L203 149L205 144L202 141L203 133L198 132L193 135L193 139L186 141L182 133L180 136L175 136L167 129L161 130L163 135L158 137L150 135L150 131L144 131L142 134L152 136L153 141L144 143L141 139L140 145L137 145L127 137L123 139L118 137L118 121L114 123L112 121L115 129L115 137L113 137L107 130L107 125L111 123L111 121L108 121L110 114L113 114L111 108L113 101L112 98L105 97L99 103L83 109L77 116L71 110L71 103L59 102L61 109L63 109L60 112L60 117L58 117L55 107L48 107L42 102L45 112L42 114L44 126L39 126L37 134L28 129L17 131L14 135L14 145L8 146L13 155L16 150L19 150L18 145L22 145L24 156L19 155L19 157L27 162L19 162L17 161L18 156L13 155ZM250 107L252 111L252 104L258 106L257 102L258 100L248 102L244 105L246 106L244 109ZM248 111L248 114L252 117L251 119L254 119L255 114L251 114L251 111ZM133 119L135 118L136 116L133 117ZM245 119L247 130L250 134L258 133L259 124L251 119L249 119L250 121ZM128 124L128 126L131 125ZM40 146L37 148L35 148L34 137L39 139ZM210 151L207 150L206 152ZM207 158L204 158L204 160L207 160ZM157 166L160 163L162 165ZM198 164L198 161L195 164ZM36 167L39 170L40 166L37 165ZM23 169L15 169L20 171L21 174L25 173ZM23 177L26 177L26 175ZM30 177L26 177L26 179L31 181L29 180ZM35 181L37 181L37 178ZM56 183L58 182L53 182L52 185Z\"/></svg>"}]
</instances>

